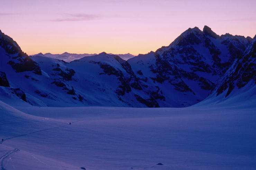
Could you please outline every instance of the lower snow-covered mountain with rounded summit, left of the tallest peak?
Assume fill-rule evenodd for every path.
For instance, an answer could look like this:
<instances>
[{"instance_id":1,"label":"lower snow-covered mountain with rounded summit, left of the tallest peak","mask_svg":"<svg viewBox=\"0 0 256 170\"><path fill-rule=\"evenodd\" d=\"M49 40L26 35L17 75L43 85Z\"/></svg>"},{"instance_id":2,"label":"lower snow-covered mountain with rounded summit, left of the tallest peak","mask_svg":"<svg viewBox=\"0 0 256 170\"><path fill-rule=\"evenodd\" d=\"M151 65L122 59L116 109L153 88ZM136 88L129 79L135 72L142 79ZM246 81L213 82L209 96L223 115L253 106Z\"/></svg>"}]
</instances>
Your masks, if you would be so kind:
<instances>
[{"instance_id":1,"label":"lower snow-covered mountain with rounded summit, left of the tallest peak","mask_svg":"<svg viewBox=\"0 0 256 170\"><path fill-rule=\"evenodd\" d=\"M55 89L51 94L60 92L55 96L62 97L66 102L90 106L145 107L146 104L148 107L159 107L140 87L127 61L119 56L102 52L70 63L41 56L35 56L33 60L51 78L47 83L54 86L48 88ZM50 95L46 91L43 93ZM51 103L54 102L61 104L61 101Z\"/></svg>"}]
</instances>

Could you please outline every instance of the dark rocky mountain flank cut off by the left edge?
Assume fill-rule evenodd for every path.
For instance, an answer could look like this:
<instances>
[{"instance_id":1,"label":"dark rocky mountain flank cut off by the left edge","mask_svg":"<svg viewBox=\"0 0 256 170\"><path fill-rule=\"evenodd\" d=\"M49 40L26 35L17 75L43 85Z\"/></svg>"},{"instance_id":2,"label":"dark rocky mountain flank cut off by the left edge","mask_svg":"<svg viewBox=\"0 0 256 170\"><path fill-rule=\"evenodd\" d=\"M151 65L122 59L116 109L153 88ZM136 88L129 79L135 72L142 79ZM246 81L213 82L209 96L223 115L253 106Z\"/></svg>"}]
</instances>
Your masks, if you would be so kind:
<instances>
[{"instance_id":1,"label":"dark rocky mountain flank cut off by the left edge","mask_svg":"<svg viewBox=\"0 0 256 170\"><path fill-rule=\"evenodd\" d=\"M0 30L0 100L8 100L10 103L14 100L27 102L20 85L24 84L27 90L29 82L19 77L25 72L42 76L39 65L20 49L17 42Z\"/></svg>"}]
</instances>

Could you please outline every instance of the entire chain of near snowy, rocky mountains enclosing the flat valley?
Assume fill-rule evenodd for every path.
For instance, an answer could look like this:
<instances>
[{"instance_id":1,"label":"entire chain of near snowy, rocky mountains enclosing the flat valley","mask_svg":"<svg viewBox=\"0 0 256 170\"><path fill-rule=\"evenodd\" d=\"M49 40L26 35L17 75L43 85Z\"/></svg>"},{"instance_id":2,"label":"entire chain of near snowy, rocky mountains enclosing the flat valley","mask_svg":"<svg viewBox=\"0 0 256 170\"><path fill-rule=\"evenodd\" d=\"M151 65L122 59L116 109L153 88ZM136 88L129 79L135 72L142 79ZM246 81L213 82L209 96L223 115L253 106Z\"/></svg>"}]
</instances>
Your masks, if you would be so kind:
<instances>
[{"instance_id":1,"label":"entire chain of near snowy, rocky mountains enclosing the flat valley","mask_svg":"<svg viewBox=\"0 0 256 170\"><path fill-rule=\"evenodd\" d=\"M0 100L12 104L187 107L251 82L255 38L219 36L207 26L127 61L102 52L69 63L29 57L0 32Z\"/></svg>"}]
</instances>

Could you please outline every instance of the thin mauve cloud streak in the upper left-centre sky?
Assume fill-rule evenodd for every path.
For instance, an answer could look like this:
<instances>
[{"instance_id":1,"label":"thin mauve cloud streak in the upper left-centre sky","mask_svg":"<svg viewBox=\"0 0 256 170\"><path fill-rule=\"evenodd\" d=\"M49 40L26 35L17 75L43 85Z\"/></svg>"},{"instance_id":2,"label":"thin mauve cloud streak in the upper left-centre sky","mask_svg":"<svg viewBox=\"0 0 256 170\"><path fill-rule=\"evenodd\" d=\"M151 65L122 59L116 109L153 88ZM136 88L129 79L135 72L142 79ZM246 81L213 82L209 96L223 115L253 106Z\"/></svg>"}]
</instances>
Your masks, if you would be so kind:
<instances>
[{"instance_id":1,"label":"thin mauve cloud streak in the upper left-centre sky","mask_svg":"<svg viewBox=\"0 0 256 170\"><path fill-rule=\"evenodd\" d=\"M53 20L49 20L52 22L64 22L64 21L90 21L99 19L100 17L97 15L91 15L91 14L65 14L62 18L57 18Z\"/></svg>"}]
</instances>

